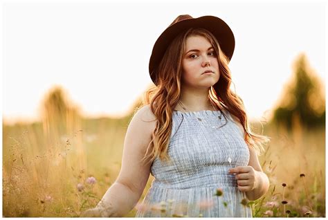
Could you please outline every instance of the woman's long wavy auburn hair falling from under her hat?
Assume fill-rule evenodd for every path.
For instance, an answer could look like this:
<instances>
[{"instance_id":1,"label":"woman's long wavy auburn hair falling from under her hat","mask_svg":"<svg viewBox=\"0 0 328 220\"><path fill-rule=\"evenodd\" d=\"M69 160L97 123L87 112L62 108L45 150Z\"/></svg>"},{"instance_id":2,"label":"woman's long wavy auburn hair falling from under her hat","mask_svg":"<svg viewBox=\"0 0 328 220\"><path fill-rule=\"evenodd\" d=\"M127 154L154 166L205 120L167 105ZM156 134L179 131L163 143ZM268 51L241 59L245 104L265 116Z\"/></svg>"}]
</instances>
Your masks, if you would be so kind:
<instances>
[{"instance_id":1,"label":"woman's long wavy auburn hair falling from under her hat","mask_svg":"<svg viewBox=\"0 0 328 220\"><path fill-rule=\"evenodd\" d=\"M263 144L268 141L266 136L254 134L249 125L244 104L238 95L230 90L231 74L228 68L229 59L224 55L217 39L208 30L190 28L172 41L165 51L161 63L156 66L156 84L145 92L143 106L149 104L156 116L156 128L152 133L152 141L147 147L143 161L152 162L158 156L161 160L170 161L167 148L172 132L172 114L179 102L181 93L182 59L185 52L186 39L190 36L202 36L208 39L215 49L219 63L219 81L211 86L209 99L212 104L219 105L239 118L244 127L244 140L248 147L253 147L257 154L264 152Z\"/></svg>"}]
</instances>

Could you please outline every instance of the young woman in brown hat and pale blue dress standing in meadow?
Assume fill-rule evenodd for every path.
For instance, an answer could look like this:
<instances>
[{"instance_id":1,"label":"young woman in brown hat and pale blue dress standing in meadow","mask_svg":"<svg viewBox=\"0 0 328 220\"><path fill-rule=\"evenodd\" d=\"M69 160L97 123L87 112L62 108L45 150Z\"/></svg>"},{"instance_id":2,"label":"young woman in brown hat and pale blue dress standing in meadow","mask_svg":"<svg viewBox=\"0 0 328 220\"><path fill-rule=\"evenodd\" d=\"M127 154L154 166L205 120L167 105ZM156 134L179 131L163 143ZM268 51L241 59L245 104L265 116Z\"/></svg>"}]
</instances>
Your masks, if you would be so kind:
<instances>
[{"instance_id":1,"label":"young woman in brown hat and pale blue dress standing in meadow","mask_svg":"<svg viewBox=\"0 0 328 220\"><path fill-rule=\"evenodd\" d=\"M136 217L252 217L269 186L242 99L230 90L235 38L218 17L180 15L149 62L156 85L132 118L116 182L84 217L122 217L152 187Z\"/></svg>"}]
</instances>

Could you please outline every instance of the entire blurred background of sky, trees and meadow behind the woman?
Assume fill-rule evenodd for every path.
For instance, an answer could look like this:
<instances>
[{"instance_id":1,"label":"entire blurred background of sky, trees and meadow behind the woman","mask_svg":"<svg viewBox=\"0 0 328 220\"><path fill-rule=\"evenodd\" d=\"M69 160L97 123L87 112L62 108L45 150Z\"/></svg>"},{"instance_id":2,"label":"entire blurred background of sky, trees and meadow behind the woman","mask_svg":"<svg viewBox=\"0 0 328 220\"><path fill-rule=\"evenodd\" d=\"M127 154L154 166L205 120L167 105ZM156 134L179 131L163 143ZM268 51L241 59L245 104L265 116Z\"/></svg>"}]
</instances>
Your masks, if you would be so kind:
<instances>
[{"instance_id":1,"label":"entire blurred background of sky, trees and meadow behind the woman","mask_svg":"<svg viewBox=\"0 0 328 220\"><path fill-rule=\"evenodd\" d=\"M233 30L231 89L271 137L259 157L271 186L253 216L325 217L326 3L5 1L2 11L3 216L78 217L98 203L153 86L152 46L189 14Z\"/></svg>"}]
</instances>

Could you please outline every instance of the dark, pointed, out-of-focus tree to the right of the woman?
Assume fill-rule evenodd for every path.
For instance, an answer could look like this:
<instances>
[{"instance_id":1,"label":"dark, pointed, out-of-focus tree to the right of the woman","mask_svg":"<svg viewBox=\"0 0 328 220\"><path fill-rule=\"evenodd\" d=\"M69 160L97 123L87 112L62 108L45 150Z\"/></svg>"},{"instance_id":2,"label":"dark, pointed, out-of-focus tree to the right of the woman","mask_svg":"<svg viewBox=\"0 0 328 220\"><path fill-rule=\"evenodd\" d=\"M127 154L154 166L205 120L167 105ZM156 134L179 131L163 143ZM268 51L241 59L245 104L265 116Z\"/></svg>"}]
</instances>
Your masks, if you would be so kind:
<instances>
[{"instance_id":1,"label":"dark, pointed, out-of-focus tree to the right of the woman","mask_svg":"<svg viewBox=\"0 0 328 220\"><path fill-rule=\"evenodd\" d=\"M304 54L294 64L294 73L273 110L273 122L292 129L295 120L302 127L325 125L325 85L322 84Z\"/></svg>"}]
</instances>

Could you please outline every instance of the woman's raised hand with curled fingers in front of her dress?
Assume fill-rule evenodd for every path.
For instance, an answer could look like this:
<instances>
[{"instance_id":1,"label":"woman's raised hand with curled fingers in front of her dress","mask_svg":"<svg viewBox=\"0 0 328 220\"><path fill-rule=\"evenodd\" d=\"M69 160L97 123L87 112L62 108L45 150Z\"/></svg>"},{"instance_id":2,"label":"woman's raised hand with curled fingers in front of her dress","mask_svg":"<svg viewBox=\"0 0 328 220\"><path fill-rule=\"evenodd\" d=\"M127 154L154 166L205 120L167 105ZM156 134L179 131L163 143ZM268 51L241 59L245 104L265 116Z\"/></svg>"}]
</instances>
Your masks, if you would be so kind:
<instances>
[{"instance_id":1,"label":"woman's raised hand with curled fingers in front of her dress","mask_svg":"<svg viewBox=\"0 0 328 220\"><path fill-rule=\"evenodd\" d=\"M240 191L248 192L257 187L257 171L252 166L234 167L229 169L229 173L235 173L238 189Z\"/></svg>"}]
</instances>

